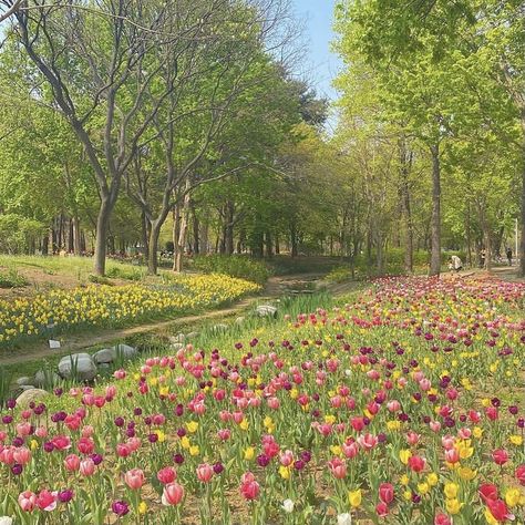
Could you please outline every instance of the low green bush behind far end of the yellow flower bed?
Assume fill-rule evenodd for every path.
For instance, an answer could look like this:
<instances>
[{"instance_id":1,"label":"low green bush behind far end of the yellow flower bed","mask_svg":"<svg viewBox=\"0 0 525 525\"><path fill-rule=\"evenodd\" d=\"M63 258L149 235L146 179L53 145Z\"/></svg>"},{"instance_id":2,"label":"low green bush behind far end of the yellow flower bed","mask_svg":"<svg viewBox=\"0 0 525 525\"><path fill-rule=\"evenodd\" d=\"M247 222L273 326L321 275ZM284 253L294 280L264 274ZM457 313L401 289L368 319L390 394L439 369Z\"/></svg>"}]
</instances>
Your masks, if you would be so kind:
<instances>
[{"instance_id":1,"label":"low green bush behind far end of the yellow flower bed","mask_svg":"<svg viewBox=\"0 0 525 525\"><path fill-rule=\"evenodd\" d=\"M266 282L271 275L271 271L264 262L240 255L196 256L194 267L204 274L224 274L259 285Z\"/></svg>"}]
</instances>

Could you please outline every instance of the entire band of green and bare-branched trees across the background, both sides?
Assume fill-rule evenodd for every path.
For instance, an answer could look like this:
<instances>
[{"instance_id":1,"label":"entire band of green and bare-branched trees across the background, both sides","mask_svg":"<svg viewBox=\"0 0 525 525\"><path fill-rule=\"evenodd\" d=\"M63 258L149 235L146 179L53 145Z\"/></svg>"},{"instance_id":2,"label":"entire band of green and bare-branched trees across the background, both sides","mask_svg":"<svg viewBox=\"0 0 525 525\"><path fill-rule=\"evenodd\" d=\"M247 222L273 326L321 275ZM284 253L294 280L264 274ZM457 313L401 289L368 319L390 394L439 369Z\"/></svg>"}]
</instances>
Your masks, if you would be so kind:
<instances>
[{"instance_id":1,"label":"entire band of green and bare-branched trees across the background, both sides","mask_svg":"<svg viewBox=\"0 0 525 525\"><path fill-rule=\"evenodd\" d=\"M519 2L338 2L330 136L287 3L0 0L0 249L490 266L525 209Z\"/></svg>"}]
</instances>

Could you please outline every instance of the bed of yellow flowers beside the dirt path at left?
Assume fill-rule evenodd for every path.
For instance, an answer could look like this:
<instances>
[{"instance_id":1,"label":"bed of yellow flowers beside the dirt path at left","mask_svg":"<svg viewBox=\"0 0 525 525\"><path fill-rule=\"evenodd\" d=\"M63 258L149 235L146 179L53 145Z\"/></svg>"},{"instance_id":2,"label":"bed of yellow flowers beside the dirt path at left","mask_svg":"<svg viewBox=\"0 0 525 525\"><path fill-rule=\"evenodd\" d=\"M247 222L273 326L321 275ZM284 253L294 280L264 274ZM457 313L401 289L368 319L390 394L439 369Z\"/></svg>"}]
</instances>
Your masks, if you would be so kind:
<instances>
[{"instance_id":1,"label":"bed of yellow flowers beside the dirt path at left","mask_svg":"<svg viewBox=\"0 0 525 525\"><path fill-rule=\"evenodd\" d=\"M174 276L163 286L89 286L0 301L0 344L80 327L114 327L132 319L220 305L260 287L223 275Z\"/></svg>"}]
</instances>

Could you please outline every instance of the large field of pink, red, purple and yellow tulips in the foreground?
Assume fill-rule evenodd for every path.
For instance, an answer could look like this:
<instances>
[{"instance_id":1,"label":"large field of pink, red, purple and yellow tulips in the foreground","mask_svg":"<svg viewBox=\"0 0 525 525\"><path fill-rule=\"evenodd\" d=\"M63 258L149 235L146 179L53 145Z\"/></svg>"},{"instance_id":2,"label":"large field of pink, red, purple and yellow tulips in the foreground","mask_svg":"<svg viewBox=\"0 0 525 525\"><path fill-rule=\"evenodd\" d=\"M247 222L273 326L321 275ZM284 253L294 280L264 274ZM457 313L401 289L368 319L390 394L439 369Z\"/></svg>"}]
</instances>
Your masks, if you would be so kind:
<instances>
[{"instance_id":1,"label":"large field of pink, red, purple and yellow tulips in the foreground","mask_svg":"<svg viewBox=\"0 0 525 525\"><path fill-rule=\"evenodd\" d=\"M110 384L10 402L0 516L523 524L524 296L495 279L382 279Z\"/></svg>"}]
</instances>

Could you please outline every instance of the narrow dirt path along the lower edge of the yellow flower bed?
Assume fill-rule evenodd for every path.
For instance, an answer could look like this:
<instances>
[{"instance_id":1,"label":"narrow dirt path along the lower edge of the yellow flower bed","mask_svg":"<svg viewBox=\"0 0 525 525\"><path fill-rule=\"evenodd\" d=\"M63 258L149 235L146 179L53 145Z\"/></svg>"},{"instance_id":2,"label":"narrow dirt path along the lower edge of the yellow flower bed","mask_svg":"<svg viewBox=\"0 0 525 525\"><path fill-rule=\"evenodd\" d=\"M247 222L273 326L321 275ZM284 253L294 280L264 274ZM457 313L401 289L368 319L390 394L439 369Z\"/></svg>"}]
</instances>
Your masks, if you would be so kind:
<instances>
[{"instance_id":1,"label":"narrow dirt path along the lower edge of the yellow flower bed","mask_svg":"<svg viewBox=\"0 0 525 525\"><path fill-rule=\"evenodd\" d=\"M16 350L3 350L0 352L0 367L16 363L23 363L37 361L45 358L56 358L65 356L71 352L79 352L87 348L97 347L101 344L110 344L114 341L125 339L136 333L148 333L157 330L165 330L177 326L191 325L206 319L217 319L223 317L240 313L249 308L255 302L271 300L280 297L285 290L286 285L298 279L316 279L319 274L301 274L297 276L270 277L265 286L262 292L258 296L247 297L236 302L235 305L212 310L194 316L178 317L167 321L157 321L136 325L128 328L109 329L103 331L95 331L91 333L65 333L62 337L62 347L60 349L50 349L47 341L31 342L24 348ZM3 353L3 354L2 354Z\"/></svg>"}]
</instances>

